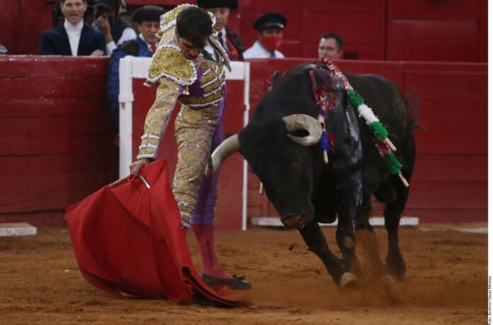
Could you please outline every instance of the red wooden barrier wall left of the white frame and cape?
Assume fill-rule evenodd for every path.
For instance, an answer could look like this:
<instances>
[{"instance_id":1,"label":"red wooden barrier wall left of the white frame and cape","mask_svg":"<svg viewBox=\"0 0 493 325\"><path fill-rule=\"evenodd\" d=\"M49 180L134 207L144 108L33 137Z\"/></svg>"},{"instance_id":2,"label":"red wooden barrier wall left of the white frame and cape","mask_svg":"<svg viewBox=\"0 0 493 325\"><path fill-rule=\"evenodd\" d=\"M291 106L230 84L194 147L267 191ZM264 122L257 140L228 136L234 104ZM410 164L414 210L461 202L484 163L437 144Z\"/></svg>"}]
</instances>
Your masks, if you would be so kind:
<instances>
[{"instance_id":1,"label":"red wooden barrier wall left of the white frame and cape","mask_svg":"<svg viewBox=\"0 0 493 325\"><path fill-rule=\"evenodd\" d=\"M0 56L0 222L63 225L118 178L108 59Z\"/></svg>"}]
</instances>

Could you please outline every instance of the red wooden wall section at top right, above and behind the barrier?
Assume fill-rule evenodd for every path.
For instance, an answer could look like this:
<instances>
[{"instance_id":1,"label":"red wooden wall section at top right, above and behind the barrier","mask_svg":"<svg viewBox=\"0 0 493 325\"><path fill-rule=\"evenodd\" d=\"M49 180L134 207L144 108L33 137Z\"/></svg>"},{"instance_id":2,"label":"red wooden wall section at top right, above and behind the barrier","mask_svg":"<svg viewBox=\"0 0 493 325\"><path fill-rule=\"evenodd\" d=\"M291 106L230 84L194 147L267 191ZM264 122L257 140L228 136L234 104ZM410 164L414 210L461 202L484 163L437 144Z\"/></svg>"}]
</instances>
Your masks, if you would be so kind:
<instances>
[{"instance_id":1,"label":"red wooden wall section at top right, above and behind the barrier","mask_svg":"<svg viewBox=\"0 0 493 325\"><path fill-rule=\"evenodd\" d=\"M388 60L487 62L487 1L387 0Z\"/></svg>"}]
</instances>

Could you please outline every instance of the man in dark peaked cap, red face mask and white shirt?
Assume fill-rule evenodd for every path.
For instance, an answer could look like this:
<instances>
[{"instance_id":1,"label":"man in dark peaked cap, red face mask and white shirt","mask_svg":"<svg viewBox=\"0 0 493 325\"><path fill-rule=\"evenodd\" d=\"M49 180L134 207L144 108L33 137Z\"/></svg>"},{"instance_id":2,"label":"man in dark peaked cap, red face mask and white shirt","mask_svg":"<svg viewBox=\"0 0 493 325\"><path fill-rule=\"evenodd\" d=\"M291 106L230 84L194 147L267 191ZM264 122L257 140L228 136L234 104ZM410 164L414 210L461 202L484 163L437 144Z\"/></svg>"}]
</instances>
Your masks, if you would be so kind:
<instances>
[{"instance_id":1,"label":"man in dark peaked cap, red face mask and white shirt","mask_svg":"<svg viewBox=\"0 0 493 325\"><path fill-rule=\"evenodd\" d=\"M283 30L287 21L282 13L264 13L254 23L259 39L243 53L244 59L283 58L277 49L283 41Z\"/></svg>"}]
</instances>

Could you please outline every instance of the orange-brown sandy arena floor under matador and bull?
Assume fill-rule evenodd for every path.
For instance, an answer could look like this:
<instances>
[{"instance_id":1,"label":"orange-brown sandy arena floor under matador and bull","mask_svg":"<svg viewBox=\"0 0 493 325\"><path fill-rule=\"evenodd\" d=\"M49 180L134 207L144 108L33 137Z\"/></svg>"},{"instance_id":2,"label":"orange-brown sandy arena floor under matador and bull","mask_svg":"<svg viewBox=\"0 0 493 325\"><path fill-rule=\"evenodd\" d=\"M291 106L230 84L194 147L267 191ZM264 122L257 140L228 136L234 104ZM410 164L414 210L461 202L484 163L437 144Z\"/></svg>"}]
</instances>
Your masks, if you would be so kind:
<instances>
[{"instance_id":1,"label":"orange-brown sandy arena floor under matador and bull","mask_svg":"<svg viewBox=\"0 0 493 325\"><path fill-rule=\"evenodd\" d=\"M225 268L254 285L254 305L236 309L101 292L79 273L67 229L0 237L0 324L486 324L487 235L458 227L487 225L401 228L407 279L397 283L397 304L375 288L337 289L295 230L217 232ZM334 227L324 233L339 252ZM385 229L377 234L385 258ZM200 266L191 234L188 242Z\"/></svg>"}]
</instances>

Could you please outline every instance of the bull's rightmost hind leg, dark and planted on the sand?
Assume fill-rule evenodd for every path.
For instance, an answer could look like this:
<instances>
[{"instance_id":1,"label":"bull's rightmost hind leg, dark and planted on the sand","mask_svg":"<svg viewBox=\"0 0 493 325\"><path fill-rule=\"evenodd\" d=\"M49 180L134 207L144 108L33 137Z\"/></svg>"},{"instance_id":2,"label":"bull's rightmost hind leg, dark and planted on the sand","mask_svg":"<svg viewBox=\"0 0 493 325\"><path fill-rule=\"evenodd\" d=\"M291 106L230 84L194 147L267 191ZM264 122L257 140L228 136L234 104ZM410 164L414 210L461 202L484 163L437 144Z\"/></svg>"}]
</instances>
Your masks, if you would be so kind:
<instances>
[{"instance_id":1,"label":"bull's rightmost hind leg, dark and planted on the sand","mask_svg":"<svg viewBox=\"0 0 493 325\"><path fill-rule=\"evenodd\" d=\"M383 214L389 241L386 261L389 273L402 279L406 273L406 263L399 249L399 222L406 206L409 188L404 187L397 176L392 176L390 182L395 187L396 198L394 202L387 203Z\"/></svg>"}]
</instances>

